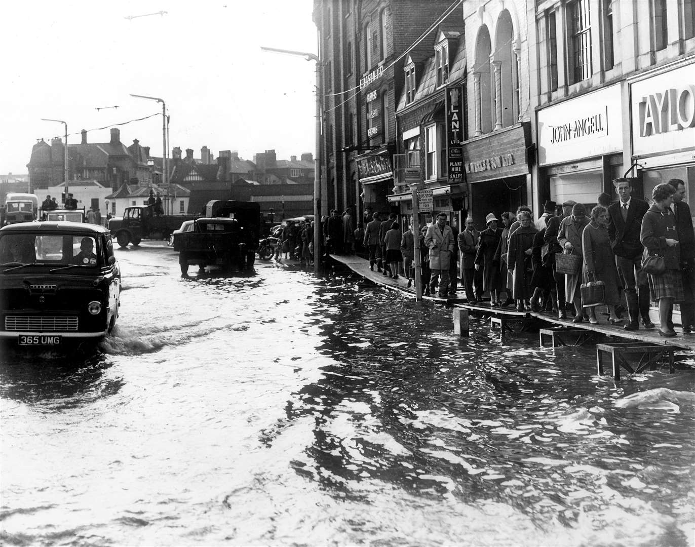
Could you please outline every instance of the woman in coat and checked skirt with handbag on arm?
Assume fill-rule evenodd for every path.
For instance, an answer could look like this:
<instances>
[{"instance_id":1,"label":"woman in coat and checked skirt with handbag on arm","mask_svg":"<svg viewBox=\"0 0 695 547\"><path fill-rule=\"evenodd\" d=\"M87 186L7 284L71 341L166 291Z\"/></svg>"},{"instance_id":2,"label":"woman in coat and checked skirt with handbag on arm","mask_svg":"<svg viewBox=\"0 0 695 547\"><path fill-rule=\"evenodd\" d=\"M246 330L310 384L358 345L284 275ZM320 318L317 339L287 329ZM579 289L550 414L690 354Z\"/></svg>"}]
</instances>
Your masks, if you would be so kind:
<instances>
[{"instance_id":1,"label":"woman in coat and checked skirt with handbag on arm","mask_svg":"<svg viewBox=\"0 0 695 547\"><path fill-rule=\"evenodd\" d=\"M673 330L673 302L685 300L680 264L680 247L675 215L671 211L673 186L657 184L652 191L654 204L644 213L639 239L644 245L642 271L649 279L652 300L659 303L659 335L676 336Z\"/></svg>"}]
</instances>

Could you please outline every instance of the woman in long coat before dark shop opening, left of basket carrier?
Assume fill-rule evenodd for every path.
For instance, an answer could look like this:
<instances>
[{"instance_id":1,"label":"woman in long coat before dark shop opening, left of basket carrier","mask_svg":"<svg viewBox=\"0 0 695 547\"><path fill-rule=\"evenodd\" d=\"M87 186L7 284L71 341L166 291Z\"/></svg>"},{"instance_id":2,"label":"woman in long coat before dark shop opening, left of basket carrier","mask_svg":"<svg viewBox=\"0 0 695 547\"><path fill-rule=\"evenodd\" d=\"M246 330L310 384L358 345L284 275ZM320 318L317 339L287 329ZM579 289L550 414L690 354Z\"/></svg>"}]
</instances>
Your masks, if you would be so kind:
<instances>
[{"instance_id":1,"label":"woman in long coat before dark shop opening, left of basket carrier","mask_svg":"<svg viewBox=\"0 0 695 547\"><path fill-rule=\"evenodd\" d=\"M512 272L514 285L512 297L516 300L517 311L530 311L531 304L531 254L533 238L538 230L531 222L531 213L520 211L516 216L519 227L509 237L509 251L507 252L507 268Z\"/></svg>"}]
</instances>

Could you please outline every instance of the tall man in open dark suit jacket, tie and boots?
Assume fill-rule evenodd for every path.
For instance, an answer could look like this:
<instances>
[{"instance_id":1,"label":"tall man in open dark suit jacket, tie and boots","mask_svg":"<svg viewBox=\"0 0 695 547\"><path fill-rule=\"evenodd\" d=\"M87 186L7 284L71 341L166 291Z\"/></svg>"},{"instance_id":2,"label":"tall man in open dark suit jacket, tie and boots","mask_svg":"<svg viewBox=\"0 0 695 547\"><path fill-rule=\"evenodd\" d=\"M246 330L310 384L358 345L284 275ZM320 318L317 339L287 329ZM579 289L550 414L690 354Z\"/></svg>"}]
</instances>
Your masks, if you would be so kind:
<instances>
[{"instance_id":1,"label":"tall man in open dark suit jacket, tie and boots","mask_svg":"<svg viewBox=\"0 0 695 547\"><path fill-rule=\"evenodd\" d=\"M630 315L630 322L625 325L625 329L639 329L639 316L646 329L653 329L654 323L649 319L649 284L647 276L641 271L644 246L639 239L642 217L649 205L642 199L630 197L632 187L628 179L615 179L613 186L619 200L608 207L608 237L623 280Z\"/></svg>"}]
</instances>

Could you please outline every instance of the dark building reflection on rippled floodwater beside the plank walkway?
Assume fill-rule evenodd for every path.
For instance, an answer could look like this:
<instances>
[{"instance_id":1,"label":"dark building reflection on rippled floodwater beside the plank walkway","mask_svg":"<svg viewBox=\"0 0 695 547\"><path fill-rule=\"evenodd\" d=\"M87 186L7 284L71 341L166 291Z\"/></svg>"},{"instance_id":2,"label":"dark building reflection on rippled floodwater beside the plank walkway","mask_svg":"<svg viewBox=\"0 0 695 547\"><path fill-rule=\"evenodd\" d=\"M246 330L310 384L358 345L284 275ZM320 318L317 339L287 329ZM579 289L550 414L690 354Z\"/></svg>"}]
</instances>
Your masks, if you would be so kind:
<instances>
[{"instance_id":1,"label":"dark building reflection on rippled floodwater beside the plank walkway","mask_svg":"<svg viewBox=\"0 0 695 547\"><path fill-rule=\"evenodd\" d=\"M588 348L530 349L537 335L500 345L486 323L461 341L433 304L330 291L314 310L318 349L334 364L286 405L288 421L314 424L306 458L293 462L298 474L341 498L384 483L502 503L541 528L582 528L587 514L598 518L616 503L648 523L678 517L693 485L693 401L685 396L670 414L614 405L644 382L676 382L672 375L657 370L616 386L593 376ZM684 374L680 389L694 389ZM654 509L657 496L664 505Z\"/></svg>"}]
</instances>

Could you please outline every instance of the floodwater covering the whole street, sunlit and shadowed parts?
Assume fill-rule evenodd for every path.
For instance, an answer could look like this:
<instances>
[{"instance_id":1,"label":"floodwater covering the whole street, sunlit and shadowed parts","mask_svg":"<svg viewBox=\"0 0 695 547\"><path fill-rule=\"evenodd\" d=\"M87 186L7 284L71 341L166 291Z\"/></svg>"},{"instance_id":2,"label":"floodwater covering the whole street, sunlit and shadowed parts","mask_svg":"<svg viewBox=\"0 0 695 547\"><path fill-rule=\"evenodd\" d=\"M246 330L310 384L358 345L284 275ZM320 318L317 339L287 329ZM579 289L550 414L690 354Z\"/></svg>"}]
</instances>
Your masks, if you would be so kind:
<instances>
[{"instance_id":1,"label":"floodwater covering the whole street, sunlit and shadowed parts","mask_svg":"<svg viewBox=\"0 0 695 547\"><path fill-rule=\"evenodd\" d=\"M1 357L3 544L695 544L692 370L616 386L354 280L117 257L96 353Z\"/></svg>"}]
</instances>

